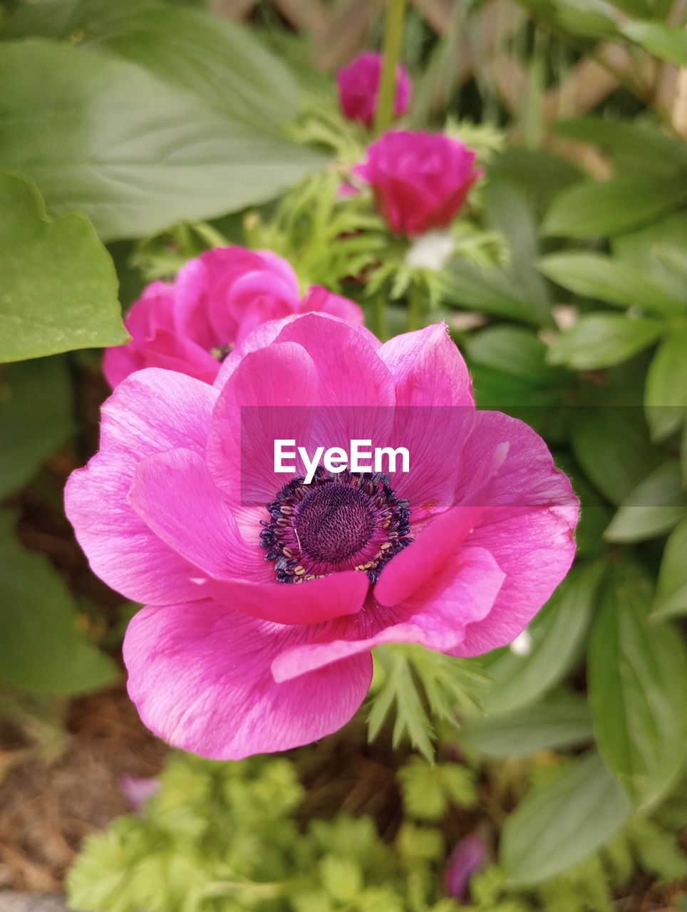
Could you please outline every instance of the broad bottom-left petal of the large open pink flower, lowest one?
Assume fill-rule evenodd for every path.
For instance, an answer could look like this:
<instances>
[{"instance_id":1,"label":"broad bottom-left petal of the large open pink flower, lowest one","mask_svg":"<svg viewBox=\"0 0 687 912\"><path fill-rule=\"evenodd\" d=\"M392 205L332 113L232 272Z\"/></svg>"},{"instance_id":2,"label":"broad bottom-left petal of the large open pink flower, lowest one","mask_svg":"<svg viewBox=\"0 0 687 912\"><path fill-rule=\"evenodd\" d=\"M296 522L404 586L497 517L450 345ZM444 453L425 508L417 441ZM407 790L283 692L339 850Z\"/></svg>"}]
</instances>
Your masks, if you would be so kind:
<instances>
[{"instance_id":1,"label":"broad bottom-left petal of the large open pink flower, lowest one","mask_svg":"<svg viewBox=\"0 0 687 912\"><path fill-rule=\"evenodd\" d=\"M124 640L130 698L155 734L216 760L316 741L358 710L372 663L363 655L276 683L272 662L308 629L318 628L266 624L209 601L144 608Z\"/></svg>"}]
</instances>

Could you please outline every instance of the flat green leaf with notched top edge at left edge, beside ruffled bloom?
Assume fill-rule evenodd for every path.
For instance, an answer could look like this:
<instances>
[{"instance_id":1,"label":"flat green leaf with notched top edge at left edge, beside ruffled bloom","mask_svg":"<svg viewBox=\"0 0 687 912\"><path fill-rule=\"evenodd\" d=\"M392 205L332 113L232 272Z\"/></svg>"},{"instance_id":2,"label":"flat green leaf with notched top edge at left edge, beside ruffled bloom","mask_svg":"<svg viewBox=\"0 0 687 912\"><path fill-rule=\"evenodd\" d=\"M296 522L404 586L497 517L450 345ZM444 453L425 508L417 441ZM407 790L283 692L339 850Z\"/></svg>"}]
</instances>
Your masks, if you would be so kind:
<instances>
[{"instance_id":1,"label":"flat green leaf with notched top edge at left edge, beside ruffled bloom","mask_svg":"<svg viewBox=\"0 0 687 912\"><path fill-rule=\"evenodd\" d=\"M36 188L4 171L0 247L0 361L126 342L117 275L88 219L48 219Z\"/></svg>"}]
</instances>

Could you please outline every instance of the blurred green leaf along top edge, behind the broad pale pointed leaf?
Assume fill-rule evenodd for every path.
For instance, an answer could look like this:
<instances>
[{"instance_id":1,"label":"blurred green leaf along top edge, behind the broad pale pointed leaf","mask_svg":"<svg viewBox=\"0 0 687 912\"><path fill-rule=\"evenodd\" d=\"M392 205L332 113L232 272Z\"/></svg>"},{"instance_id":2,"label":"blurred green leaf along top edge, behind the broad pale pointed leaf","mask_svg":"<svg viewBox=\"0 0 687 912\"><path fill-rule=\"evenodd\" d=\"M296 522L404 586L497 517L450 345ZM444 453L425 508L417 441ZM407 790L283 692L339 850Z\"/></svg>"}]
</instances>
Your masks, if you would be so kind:
<instances>
[{"instance_id":1,"label":"blurred green leaf along top edge, behind the broad pale pointed leaf","mask_svg":"<svg viewBox=\"0 0 687 912\"><path fill-rule=\"evenodd\" d=\"M59 7L56 18L53 7ZM274 132L297 112L298 85L245 26L156 0L20 5L5 34L75 40L140 64L230 117Z\"/></svg>"}]
</instances>

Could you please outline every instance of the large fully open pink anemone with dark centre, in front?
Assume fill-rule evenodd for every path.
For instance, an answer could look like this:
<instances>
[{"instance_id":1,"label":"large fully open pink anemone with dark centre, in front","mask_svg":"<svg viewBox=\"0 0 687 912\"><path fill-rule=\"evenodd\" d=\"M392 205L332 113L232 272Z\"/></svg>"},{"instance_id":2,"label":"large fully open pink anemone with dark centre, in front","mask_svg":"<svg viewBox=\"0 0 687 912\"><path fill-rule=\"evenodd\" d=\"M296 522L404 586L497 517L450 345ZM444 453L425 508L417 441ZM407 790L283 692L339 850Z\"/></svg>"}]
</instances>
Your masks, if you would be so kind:
<instances>
[{"instance_id":1,"label":"large fully open pink anemone with dark centre, in front","mask_svg":"<svg viewBox=\"0 0 687 912\"><path fill-rule=\"evenodd\" d=\"M411 471L306 485L275 474L281 438L402 445ZM214 386L123 380L66 506L93 570L145 604L124 642L141 719L218 759L336 731L381 643L511 642L567 574L578 521L544 441L474 409L445 326L382 345L322 314L258 327Z\"/></svg>"}]
</instances>

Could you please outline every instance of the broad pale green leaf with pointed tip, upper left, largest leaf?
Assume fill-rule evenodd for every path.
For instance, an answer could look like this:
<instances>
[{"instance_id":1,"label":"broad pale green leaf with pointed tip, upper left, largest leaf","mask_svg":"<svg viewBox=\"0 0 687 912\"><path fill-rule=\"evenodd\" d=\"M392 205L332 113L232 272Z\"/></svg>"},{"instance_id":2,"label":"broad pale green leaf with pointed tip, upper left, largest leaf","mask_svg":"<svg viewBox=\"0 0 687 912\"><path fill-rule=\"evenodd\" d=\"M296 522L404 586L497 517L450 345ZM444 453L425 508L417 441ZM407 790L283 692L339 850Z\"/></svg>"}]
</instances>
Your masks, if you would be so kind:
<instances>
[{"instance_id":1,"label":"broad pale green leaf with pointed tip, upper left, largest leaf","mask_svg":"<svg viewBox=\"0 0 687 912\"><path fill-rule=\"evenodd\" d=\"M2 47L0 163L104 239L265 202L323 161L104 52Z\"/></svg>"}]
</instances>

